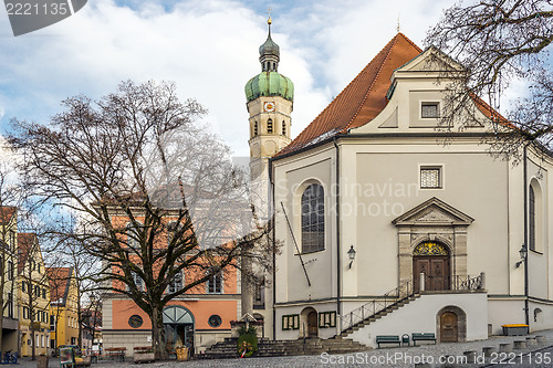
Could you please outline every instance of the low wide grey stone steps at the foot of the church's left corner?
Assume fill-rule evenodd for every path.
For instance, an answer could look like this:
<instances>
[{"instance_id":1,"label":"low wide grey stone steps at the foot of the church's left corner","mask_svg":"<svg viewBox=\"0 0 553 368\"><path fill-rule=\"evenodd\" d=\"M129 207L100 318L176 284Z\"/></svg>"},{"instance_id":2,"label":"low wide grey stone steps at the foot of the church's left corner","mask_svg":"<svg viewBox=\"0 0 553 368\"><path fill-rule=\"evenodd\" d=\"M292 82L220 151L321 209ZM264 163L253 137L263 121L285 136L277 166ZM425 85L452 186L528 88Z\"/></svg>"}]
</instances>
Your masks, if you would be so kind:
<instances>
[{"instance_id":1,"label":"low wide grey stone steps at the foot of the church's left corner","mask_svg":"<svg viewBox=\"0 0 553 368\"><path fill-rule=\"evenodd\" d=\"M209 347L204 354L195 356L196 359L226 359L238 358L237 338L226 338ZM258 341L257 357L279 357L296 355L347 354L369 350L365 345L352 339L321 339L306 338L296 340L270 340L261 338Z\"/></svg>"}]
</instances>

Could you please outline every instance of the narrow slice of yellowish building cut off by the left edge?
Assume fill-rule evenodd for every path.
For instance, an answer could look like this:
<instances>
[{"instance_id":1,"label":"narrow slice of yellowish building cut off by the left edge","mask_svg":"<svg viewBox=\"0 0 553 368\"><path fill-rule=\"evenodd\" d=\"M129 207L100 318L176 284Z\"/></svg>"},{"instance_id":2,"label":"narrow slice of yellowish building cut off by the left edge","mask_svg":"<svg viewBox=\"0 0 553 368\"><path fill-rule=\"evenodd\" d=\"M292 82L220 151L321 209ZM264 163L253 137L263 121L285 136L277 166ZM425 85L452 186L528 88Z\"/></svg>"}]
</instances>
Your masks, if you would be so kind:
<instances>
[{"instance_id":1,"label":"narrow slice of yellowish building cut off by the left edge","mask_svg":"<svg viewBox=\"0 0 553 368\"><path fill-rule=\"evenodd\" d=\"M18 244L18 209L15 207L0 207L0 241L6 246L0 246L0 260L3 260L0 273L0 284L3 285L3 318L1 351L18 350L19 346L19 311L17 307L17 244ZM0 304L1 305L1 304Z\"/></svg>"}]
</instances>

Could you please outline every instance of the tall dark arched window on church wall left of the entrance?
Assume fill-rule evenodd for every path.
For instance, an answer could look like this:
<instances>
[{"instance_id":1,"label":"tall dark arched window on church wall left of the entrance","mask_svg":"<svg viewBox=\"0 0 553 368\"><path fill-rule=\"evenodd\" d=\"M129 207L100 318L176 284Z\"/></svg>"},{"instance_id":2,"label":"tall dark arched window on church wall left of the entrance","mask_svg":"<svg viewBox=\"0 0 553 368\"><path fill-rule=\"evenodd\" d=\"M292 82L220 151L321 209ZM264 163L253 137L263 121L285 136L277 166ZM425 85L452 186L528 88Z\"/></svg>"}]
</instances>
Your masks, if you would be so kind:
<instances>
[{"instance_id":1,"label":"tall dark arched window on church wall left of the entrance","mask_svg":"<svg viewBox=\"0 0 553 368\"><path fill-rule=\"evenodd\" d=\"M302 194L302 252L324 250L324 190L311 185Z\"/></svg>"}]
</instances>

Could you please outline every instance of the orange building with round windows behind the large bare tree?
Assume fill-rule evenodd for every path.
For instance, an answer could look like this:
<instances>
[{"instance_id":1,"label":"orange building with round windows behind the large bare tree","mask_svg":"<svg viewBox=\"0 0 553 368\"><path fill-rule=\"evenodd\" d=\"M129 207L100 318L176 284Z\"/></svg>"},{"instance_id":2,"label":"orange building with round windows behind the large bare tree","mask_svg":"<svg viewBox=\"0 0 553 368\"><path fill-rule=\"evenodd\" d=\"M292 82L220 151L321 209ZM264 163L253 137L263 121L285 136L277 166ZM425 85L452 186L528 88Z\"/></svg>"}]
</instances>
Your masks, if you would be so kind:
<instances>
[{"instance_id":1,"label":"orange building with round windows behind the large bare tree","mask_svg":"<svg viewBox=\"0 0 553 368\"><path fill-rule=\"evenodd\" d=\"M124 225L128 219L114 215L112 222ZM159 240L160 244L166 242L167 238ZM198 276L185 271L168 288L171 292L181 288ZM140 284L138 280L135 282ZM123 287L117 283L121 282L113 281L112 286ZM188 346L199 353L230 337L230 322L240 317L240 292L237 285L236 269L227 267L205 284L169 302L164 308L163 319L168 349ZM152 345L150 319L127 295L117 292L104 294L102 314L104 349L125 347L127 355L132 355L134 347Z\"/></svg>"}]
</instances>

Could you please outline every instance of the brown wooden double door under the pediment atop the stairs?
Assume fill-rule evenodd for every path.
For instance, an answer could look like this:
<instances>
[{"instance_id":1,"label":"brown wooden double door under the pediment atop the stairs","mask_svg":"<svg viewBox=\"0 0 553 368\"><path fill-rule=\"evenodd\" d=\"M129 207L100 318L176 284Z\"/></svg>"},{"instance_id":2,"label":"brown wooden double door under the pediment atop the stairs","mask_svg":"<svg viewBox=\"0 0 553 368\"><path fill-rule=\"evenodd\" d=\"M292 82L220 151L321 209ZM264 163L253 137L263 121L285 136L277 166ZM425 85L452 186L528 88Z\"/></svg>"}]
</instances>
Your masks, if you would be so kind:
<instances>
[{"instance_id":1,"label":"brown wooden double door under the pediment atop the stairs","mask_svg":"<svg viewBox=\"0 0 553 368\"><path fill-rule=\"evenodd\" d=\"M449 259L447 256L414 256L415 292L420 290L420 273L425 274L425 291L449 290Z\"/></svg>"}]
</instances>

